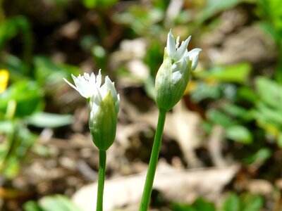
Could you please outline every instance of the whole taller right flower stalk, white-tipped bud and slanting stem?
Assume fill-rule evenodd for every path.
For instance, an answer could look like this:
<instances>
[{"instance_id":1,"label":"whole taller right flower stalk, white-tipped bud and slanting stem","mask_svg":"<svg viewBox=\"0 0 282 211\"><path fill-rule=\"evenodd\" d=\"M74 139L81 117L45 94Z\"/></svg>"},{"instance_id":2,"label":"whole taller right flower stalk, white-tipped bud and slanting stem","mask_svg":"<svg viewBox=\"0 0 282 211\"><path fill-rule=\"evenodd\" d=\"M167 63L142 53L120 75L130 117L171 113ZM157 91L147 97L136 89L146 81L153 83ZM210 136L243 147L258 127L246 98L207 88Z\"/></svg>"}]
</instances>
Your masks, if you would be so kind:
<instances>
[{"instance_id":1,"label":"whole taller right flower stalk, white-tipped bud and slanting stem","mask_svg":"<svg viewBox=\"0 0 282 211\"><path fill-rule=\"evenodd\" d=\"M155 82L159 118L139 211L147 211L149 207L161 139L164 133L166 113L180 101L188 85L190 72L197 67L201 49L188 51L187 47L190 38L188 37L179 46L179 37L175 41L171 31L168 33L166 48L164 49L164 61L157 72Z\"/></svg>"}]
</instances>

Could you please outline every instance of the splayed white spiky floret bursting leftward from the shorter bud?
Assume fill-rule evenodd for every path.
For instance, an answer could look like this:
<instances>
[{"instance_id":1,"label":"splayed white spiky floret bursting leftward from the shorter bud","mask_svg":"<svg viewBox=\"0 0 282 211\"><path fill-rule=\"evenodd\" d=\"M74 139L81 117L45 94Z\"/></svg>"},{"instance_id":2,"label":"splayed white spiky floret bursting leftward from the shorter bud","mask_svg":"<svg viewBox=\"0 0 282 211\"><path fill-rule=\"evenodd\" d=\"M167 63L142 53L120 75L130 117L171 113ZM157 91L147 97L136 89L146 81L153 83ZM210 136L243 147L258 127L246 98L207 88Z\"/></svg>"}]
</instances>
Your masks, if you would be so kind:
<instances>
[{"instance_id":1,"label":"splayed white spiky floret bursting leftward from the shorter bud","mask_svg":"<svg viewBox=\"0 0 282 211\"><path fill-rule=\"evenodd\" d=\"M97 77L95 77L93 72L91 75L84 73L82 76L78 75L78 77L75 77L74 75L71 75L71 77L73 78L73 82L75 82L75 86L64 78L65 82L85 98L91 98L92 95L96 95L97 88L101 86L102 82L101 70L99 70Z\"/></svg>"}]
</instances>

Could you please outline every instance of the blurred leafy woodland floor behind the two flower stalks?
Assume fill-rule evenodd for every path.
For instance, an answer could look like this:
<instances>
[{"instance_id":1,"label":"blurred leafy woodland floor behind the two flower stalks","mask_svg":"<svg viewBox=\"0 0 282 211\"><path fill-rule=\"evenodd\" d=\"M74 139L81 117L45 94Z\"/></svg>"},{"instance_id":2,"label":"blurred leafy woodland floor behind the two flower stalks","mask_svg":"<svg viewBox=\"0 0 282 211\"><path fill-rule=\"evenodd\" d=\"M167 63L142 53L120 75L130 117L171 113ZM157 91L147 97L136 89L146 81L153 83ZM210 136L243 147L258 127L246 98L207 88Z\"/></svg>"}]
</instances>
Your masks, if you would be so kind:
<instances>
[{"instance_id":1,"label":"blurred leafy woodland floor behind the two flower stalks","mask_svg":"<svg viewBox=\"0 0 282 211\"><path fill-rule=\"evenodd\" d=\"M0 210L94 210L87 102L63 82L109 75L121 94L105 210L137 210L169 30L199 47L168 113L151 210L282 210L282 1L0 0Z\"/></svg>"}]
</instances>

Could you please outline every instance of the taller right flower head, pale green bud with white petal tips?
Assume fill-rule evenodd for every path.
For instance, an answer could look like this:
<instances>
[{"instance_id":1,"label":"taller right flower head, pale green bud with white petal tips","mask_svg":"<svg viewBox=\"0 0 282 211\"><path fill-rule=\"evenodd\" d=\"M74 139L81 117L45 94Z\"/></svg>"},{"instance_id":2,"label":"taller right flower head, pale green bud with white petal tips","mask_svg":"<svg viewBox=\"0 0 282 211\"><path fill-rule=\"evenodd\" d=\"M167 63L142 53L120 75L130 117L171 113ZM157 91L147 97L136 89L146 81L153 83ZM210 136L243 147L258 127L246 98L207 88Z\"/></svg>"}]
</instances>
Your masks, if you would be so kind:
<instances>
[{"instance_id":1,"label":"taller right flower head, pale green bud with white petal tips","mask_svg":"<svg viewBox=\"0 0 282 211\"><path fill-rule=\"evenodd\" d=\"M155 88L157 91L156 103L166 111L178 103L187 87L190 71L197 68L201 49L187 50L191 36L179 46L179 36L176 40L168 32L164 62L157 72Z\"/></svg>"}]
</instances>

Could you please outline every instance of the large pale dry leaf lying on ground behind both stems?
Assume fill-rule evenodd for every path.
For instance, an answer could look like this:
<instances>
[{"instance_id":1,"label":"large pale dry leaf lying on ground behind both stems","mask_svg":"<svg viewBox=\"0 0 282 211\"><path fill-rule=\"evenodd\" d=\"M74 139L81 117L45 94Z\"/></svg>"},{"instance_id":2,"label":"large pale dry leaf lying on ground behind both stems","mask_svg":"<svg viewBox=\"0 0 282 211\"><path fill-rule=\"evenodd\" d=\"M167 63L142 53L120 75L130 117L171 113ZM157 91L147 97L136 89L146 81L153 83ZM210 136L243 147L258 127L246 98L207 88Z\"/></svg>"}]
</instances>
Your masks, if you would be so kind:
<instances>
[{"instance_id":1,"label":"large pale dry leaf lying on ground behind both stems","mask_svg":"<svg viewBox=\"0 0 282 211\"><path fill-rule=\"evenodd\" d=\"M238 166L200 170L157 169L154 188L166 199L190 203L199 196L216 200L219 193L238 172ZM140 203L145 173L106 181L104 187L104 210L135 207ZM97 183L82 187L73 196L73 201L85 211L95 209Z\"/></svg>"}]
</instances>

